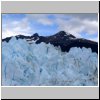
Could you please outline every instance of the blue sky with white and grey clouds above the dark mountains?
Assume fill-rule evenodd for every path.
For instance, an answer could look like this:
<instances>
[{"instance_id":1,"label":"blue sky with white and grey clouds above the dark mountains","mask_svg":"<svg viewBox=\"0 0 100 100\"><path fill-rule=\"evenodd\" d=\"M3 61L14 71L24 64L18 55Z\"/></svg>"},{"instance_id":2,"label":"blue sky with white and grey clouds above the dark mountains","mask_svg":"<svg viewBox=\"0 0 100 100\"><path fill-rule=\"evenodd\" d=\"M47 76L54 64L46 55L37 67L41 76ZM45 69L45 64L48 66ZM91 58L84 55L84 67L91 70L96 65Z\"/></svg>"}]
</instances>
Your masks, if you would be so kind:
<instances>
[{"instance_id":1,"label":"blue sky with white and grey clouds above the dark mountains","mask_svg":"<svg viewBox=\"0 0 100 100\"><path fill-rule=\"evenodd\" d=\"M16 35L50 36L65 31L78 38L98 41L98 15L80 14L2 14L2 38Z\"/></svg>"}]
</instances>

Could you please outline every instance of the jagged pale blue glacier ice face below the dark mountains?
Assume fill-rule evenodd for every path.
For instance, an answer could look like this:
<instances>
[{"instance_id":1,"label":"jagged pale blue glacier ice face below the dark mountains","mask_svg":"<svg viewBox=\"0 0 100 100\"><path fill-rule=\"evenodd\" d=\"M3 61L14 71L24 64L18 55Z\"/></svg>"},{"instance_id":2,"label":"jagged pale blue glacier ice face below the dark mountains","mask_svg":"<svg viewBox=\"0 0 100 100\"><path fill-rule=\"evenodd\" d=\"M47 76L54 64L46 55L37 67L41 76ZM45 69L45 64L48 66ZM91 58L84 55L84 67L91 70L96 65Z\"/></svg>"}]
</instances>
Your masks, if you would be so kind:
<instances>
[{"instance_id":1,"label":"jagged pale blue glacier ice face below the dark mountains","mask_svg":"<svg viewBox=\"0 0 100 100\"><path fill-rule=\"evenodd\" d=\"M13 37L2 42L3 86L96 86L98 55L90 48L61 52L51 44Z\"/></svg>"}]
</instances>

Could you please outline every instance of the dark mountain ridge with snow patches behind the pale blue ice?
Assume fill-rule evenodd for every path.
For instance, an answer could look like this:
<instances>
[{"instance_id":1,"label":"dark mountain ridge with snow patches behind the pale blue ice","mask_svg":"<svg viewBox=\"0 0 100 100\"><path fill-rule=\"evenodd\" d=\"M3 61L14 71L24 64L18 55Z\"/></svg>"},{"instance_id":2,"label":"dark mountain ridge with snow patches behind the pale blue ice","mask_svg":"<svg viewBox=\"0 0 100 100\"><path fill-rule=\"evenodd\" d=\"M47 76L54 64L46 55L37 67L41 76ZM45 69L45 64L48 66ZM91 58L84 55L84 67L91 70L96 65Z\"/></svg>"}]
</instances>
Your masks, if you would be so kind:
<instances>
[{"instance_id":1,"label":"dark mountain ridge with snow patches behind the pale blue ice","mask_svg":"<svg viewBox=\"0 0 100 100\"><path fill-rule=\"evenodd\" d=\"M12 37L8 37L5 39L2 39L2 41L9 42L9 40ZM92 52L98 53L98 43L94 41L90 41L83 38L76 38L75 36L66 33L64 31L60 31L52 36L39 36L37 33L33 34L32 36L23 36L18 35L16 36L16 39L26 39L30 44L32 44L32 41L35 41L36 44L39 44L41 42L44 43L50 43L54 46L60 46L62 51L69 51L72 47L86 47L91 48Z\"/></svg>"}]
</instances>

